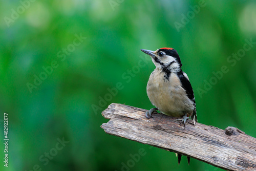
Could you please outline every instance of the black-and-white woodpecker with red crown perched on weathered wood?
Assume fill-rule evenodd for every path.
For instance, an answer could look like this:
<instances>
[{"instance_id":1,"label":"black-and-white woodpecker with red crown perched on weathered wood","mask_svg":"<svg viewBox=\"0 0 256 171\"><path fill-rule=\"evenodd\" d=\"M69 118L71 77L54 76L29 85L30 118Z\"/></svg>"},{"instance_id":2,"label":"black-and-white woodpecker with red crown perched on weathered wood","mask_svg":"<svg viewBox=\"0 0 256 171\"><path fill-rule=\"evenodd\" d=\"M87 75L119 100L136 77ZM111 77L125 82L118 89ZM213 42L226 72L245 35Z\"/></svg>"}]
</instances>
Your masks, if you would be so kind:
<instances>
[{"instance_id":1,"label":"black-and-white woodpecker with red crown perched on weathered wood","mask_svg":"<svg viewBox=\"0 0 256 171\"><path fill-rule=\"evenodd\" d=\"M152 113L160 111L168 116L183 117L177 120L182 120L184 128L189 117L196 126L198 120L195 96L187 74L181 69L182 63L178 52L173 48L141 51L150 55L156 66L146 86L147 96L156 108L147 111L146 118L153 118ZM181 156L178 154L178 164ZM190 157L187 157L187 160L189 164Z\"/></svg>"}]
</instances>

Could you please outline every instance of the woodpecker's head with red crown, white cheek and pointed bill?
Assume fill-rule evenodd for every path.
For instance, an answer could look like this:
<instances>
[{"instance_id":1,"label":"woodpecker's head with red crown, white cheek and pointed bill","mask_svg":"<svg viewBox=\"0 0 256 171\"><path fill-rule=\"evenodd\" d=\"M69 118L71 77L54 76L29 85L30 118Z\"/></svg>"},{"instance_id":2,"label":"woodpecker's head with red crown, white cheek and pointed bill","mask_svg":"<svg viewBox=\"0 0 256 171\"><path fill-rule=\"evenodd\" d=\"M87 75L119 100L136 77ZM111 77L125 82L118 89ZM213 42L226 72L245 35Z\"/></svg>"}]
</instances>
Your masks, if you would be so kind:
<instances>
[{"instance_id":1,"label":"woodpecker's head with red crown, white cheek and pointed bill","mask_svg":"<svg viewBox=\"0 0 256 171\"><path fill-rule=\"evenodd\" d=\"M141 49L142 52L151 56L156 68L168 68L173 72L181 70L181 61L177 51L173 48L161 48L156 51Z\"/></svg>"}]
</instances>

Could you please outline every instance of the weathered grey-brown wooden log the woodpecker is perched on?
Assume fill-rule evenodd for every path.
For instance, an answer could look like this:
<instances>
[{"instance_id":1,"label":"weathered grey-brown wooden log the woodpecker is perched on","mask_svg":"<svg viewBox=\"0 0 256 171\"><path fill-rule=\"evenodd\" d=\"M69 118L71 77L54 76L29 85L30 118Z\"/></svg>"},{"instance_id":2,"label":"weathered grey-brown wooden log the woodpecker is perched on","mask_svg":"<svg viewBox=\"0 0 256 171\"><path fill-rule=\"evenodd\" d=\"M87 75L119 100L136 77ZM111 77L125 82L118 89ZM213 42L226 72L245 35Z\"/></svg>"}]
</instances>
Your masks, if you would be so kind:
<instances>
[{"instance_id":1,"label":"weathered grey-brown wooden log the woodpecker is perched on","mask_svg":"<svg viewBox=\"0 0 256 171\"><path fill-rule=\"evenodd\" d=\"M174 117L112 103L102 112L108 123L101 125L107 134L123 137L167 151L189 156L226 170L256 170L256 138L235 127L226 130L188 120L184 129Z\"/></svg>"}]
</instances>

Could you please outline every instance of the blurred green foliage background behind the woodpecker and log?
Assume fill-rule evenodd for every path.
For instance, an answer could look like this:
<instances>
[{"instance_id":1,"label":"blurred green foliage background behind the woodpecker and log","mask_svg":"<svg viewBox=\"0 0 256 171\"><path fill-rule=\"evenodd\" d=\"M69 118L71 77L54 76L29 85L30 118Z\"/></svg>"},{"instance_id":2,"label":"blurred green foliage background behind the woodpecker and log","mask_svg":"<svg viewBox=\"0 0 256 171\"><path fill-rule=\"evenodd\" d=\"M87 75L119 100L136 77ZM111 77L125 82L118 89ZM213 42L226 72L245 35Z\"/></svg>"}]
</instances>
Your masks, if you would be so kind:
<instances>
[{"instance_id":1,"label":"blurred green foliage background behind the woodpecker and log","mask_svg":"<svg viewBox=\"0 0 256 171\"><path fill-rule=\"evenodd\" d=\"M1 1L0 18L2 133L9 118L0 170L222 170L185 157L178 165L174 153L100 128L112 102L153 107L155 66L140 49L178 51L200 123L256 137L255 1ZM122 89L106 97L117 82Z\"/></svg>"}]
</instances>

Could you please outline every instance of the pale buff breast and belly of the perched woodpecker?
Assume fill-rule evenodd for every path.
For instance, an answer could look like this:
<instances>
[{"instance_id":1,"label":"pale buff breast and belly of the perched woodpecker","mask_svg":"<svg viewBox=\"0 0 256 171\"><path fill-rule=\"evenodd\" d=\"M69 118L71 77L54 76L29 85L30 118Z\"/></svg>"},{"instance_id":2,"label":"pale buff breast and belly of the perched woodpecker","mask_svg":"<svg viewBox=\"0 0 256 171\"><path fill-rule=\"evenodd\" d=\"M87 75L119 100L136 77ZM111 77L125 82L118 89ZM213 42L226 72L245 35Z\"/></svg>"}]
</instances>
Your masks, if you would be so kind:
<instances>
[{"instance_id":1,"label":"pale buff breast and belly of the perched woodpecker","mask_svg":"<svg viewBox=\"0 0 256 171\"><path fill-rule=\"evenodd\" d=\"M169 79L164 79L165 73L155 69L147 82L147 96L153 105L163 114L182 117L194 110L193 102L187 97L181 87L180 79L171 73Z\"/></svg>"}]
</instances>

